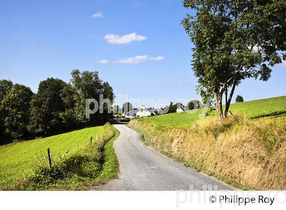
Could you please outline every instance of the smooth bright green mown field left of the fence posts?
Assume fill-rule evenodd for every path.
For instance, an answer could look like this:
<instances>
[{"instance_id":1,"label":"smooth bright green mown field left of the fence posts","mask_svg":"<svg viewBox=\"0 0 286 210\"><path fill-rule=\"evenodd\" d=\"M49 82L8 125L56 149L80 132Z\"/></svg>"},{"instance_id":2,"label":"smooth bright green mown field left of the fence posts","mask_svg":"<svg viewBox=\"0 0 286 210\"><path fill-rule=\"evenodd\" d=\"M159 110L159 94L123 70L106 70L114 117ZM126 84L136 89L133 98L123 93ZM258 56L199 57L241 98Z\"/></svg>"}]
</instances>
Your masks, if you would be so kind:
<instances>
[{"instance_id":1,"label":"smooth bright green mown field left of the fence posts","mask_svg":"<svg viewBox=\"0 0 286 210\"><path fill-rule=\"evenodd\" d=\"M90 137L103 136L103 126L82 129L56 136L22 141L0 147L0 189L16 184L18 180L31 175L35 167L47 164L47 148L51 149L52 158L77 153L90 142Z\"/></svg>"}]
</instances>

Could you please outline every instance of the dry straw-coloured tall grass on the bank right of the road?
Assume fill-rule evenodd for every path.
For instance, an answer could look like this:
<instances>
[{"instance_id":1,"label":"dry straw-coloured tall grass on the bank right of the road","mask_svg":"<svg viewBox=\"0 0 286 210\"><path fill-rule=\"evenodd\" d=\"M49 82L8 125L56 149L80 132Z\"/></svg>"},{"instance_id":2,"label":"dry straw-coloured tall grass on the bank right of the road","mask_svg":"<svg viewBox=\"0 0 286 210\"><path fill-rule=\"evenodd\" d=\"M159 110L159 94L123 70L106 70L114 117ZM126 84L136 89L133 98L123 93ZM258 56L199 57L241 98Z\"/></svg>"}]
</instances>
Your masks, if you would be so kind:
<instances>
[{"instance_id":1,"label":"dry straw-coloured tall grass on the bank right of the road","mask_svg":"<svg viewBox=\"0 0 286 210\"><path fill-rule=\"evenodd\" d=\"M216 117L189 128L156 130L154 123L132 120L154 149L196 169L260 190L286 190L286 117L248 119L235 114L222 124Z\"/></svg>"}]
</instances>

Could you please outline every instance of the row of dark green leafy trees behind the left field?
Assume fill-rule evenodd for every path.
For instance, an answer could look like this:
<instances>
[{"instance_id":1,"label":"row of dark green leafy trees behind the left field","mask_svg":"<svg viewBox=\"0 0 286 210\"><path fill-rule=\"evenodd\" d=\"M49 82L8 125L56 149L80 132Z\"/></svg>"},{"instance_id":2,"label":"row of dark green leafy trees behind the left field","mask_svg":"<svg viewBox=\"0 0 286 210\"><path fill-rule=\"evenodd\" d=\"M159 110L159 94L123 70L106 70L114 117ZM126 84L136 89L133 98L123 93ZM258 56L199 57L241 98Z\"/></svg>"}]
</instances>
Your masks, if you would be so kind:
<instances>
[{"instance_id":1,"label":"row of dark green leafy trees behind the left field","mask_svg":"<svg viewBox=\"0 0 286 210\"><path fill-rule=\"evenodd\" d=\"M85 118L85 99L99 101L100 94L113 101L113 89L98 72L73 70L70 82L47 78L34 94L29 87L0 80L0 144L102 125L112 113ZM92 108L90 108L92 109Z\"/></svg>"}]
</instances>

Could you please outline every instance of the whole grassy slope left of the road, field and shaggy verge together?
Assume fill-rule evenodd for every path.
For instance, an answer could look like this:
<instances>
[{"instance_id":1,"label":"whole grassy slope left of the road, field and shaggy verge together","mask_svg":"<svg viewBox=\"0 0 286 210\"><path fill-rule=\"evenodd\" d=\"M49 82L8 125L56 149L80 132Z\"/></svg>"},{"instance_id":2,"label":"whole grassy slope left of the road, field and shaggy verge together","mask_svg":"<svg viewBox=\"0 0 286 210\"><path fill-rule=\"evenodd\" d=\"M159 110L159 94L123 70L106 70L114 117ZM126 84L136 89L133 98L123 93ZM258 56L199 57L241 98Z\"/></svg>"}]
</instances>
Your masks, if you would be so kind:
<instances>
[{"instance_id":1,"label":"whole grassy slope left of the road, field and shaggy verge together","mask_svg":"<svg viewBox=\"0 0 286 210\"><path fill-rule=\"evenodd\" d=\"M119 134L107 123L101 127L3 146L0 148L0 189L86 190L90 184L115 178L118 160L113 142ZM91 145L90 135L98 136L93 138ZM53 148L52 167L44 157L36 155L47 145ZM15 151L16 161L7 158L9 152Z\"/></svg>"}]
</instances>

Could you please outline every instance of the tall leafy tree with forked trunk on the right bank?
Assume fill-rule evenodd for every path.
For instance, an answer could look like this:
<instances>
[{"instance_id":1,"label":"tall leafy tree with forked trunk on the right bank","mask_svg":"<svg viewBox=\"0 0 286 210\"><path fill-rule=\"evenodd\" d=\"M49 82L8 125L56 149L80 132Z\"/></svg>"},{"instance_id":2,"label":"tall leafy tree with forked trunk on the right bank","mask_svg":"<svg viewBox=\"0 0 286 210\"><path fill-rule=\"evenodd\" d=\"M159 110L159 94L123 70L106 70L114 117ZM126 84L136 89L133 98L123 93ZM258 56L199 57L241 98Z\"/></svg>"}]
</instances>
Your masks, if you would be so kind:
<instances>
[{"instance_id":1,"label":"tall leafy tree with forked trunk on the right bank","mask_svg":"<svg viewBox=\"0 0 286 210\"><path fill-rule=\"evenodd\" d=\"M215 98L222 121L243 79L267 81L271 68L286 60L286 1L184 0L183 5L196 12L187 14L182 25L194 44L198 90L202 97Z\"/></svg>"}]
</instances>

